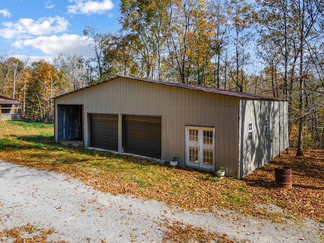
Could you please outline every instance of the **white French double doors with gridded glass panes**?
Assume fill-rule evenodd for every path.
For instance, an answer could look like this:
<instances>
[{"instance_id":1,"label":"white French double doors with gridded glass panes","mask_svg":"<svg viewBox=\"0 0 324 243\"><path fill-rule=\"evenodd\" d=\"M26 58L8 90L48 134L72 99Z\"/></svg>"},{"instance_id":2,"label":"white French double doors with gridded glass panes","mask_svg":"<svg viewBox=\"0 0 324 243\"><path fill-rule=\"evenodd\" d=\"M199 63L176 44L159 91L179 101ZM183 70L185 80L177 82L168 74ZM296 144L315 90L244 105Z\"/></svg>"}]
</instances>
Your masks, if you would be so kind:
<instances>
[{"instance_id":1,"label":"white French double doors with gridded glass panes","mask_svg":"<svg viewBox=\"0 0 324 243\"><path fill-rule=\"evenodd\" d=\"M215 128L186 126L186 165L215 169Z\"/></svg>"}]
</instances>

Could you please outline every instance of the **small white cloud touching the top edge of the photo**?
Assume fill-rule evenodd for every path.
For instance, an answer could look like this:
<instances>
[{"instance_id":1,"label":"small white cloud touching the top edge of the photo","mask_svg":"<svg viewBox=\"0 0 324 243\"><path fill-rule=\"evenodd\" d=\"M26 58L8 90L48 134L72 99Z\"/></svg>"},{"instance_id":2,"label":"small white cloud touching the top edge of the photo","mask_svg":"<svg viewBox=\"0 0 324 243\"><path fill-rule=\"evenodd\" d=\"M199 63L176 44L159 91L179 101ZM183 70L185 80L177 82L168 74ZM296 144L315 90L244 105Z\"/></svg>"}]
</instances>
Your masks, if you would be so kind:
<instances>
[{"instance_id":1,"label":"small white cloud touching the top edge of the photo","mask_svg":"<svg viewBox=\"0 0 324 243\"><path fill-rule=\"evenodd\" d=\"M69 0L74 5L67 6L67 12L69 14L103 14L113 8L111 0L91 1L91 0Z\"/></svg>"}]
</instances>

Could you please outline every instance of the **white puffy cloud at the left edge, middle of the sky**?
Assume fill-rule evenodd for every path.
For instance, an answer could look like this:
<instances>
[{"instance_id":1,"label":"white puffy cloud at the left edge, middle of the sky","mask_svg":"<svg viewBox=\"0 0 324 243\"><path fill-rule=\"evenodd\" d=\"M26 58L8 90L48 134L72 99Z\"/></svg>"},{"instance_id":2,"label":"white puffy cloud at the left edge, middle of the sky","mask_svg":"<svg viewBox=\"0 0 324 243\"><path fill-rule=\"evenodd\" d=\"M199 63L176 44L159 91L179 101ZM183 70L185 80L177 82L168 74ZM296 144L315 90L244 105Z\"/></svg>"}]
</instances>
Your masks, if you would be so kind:
<instances>
[{"instance_id":1,"label":"white puffy cloud at the left edge, middle of the sky","mask_svg":"<svg viewBox=\"0 0 324 243\"><path fill-rule=\"evenodd\" d=\"M7 39L28 38L30 36L48 35L67 31L68 21L65 18L19 19L16 23L3 22L5 28L0 29L0 36Z\"/></svg>"}]
</instances>

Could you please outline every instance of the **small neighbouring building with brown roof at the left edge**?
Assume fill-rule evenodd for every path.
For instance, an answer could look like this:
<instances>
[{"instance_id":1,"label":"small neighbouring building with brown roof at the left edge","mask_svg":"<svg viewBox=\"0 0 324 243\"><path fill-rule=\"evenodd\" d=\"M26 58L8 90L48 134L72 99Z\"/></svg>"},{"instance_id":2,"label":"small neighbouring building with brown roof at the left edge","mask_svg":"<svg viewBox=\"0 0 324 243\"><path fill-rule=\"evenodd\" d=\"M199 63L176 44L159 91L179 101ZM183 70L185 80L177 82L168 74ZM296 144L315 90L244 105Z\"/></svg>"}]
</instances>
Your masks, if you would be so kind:
<instances>
[{"instance_id":1,"label":"small neighbouring building with brown roof at the left edge","mask_svg":"<svg viewBox=\"0 0 324 243\"><path fill-rule=\"evenodd\" d=\"M21 103L0 95L1 113L0 120L19 120L21 119Z\"/></svg>"}]
</instances>

